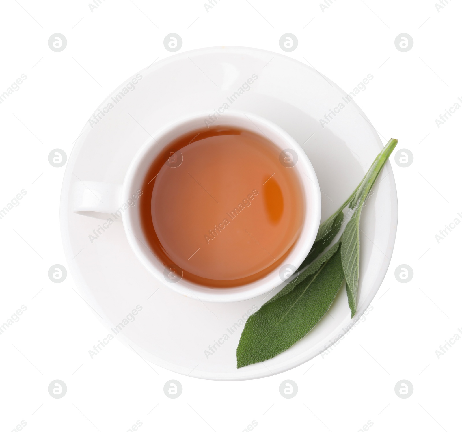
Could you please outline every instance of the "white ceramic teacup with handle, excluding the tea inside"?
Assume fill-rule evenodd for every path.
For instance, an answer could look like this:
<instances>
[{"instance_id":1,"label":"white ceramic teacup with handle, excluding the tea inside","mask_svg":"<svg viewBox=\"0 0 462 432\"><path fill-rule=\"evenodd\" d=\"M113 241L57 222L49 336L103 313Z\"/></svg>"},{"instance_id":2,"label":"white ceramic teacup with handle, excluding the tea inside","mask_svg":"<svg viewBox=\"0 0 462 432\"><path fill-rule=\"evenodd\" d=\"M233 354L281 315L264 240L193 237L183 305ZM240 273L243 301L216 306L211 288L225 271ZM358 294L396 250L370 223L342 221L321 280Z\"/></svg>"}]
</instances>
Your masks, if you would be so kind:
<instances>
[{"instance_id":1,"label":"white ceramic teacup with handle, excluding the tea inside","mask_svg":"<svg viewBox=\"0 0 462 432\"><path fill-rule=\"evenodd\" d=\"M210 123L209 113L182 117L159 129L149 138L132 160L123 185L83 181L75 183L74 212L101 217L100 213L121 214L128 243L140 262L165 286L187 297L207 302L237 302L264 294L287 283L292 273L304 261L316 238L321 219L321 193L315 170L298 143L283 129L268 120L250 113L230 111L221 114L214 126L231 126L247 129L265 136L286 154L287 169L296 170L305 198L304 222L298 240L280 268L274 269L259 280L231 288L211 288L183 279L165 268L151 249L140 226L140 208L136 205L139 191L152 162L173 140ZM294 162L295 165L294 165Z\"/></svg>"}]
</instances>

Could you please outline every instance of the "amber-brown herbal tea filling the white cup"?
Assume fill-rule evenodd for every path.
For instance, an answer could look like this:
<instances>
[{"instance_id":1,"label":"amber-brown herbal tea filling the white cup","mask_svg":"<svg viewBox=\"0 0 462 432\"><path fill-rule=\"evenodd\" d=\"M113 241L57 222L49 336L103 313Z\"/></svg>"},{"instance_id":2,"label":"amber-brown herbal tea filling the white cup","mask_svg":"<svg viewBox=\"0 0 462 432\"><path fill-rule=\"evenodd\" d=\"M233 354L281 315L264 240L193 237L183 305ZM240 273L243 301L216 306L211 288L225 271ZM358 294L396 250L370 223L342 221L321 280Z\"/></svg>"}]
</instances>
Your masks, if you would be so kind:
<instances>
[{"instance_id":1,"label":"amber-brown herbal tea filling the white cup","mask_svg":"<svg viewBox=\"0 0 462 432\"><path fill-rule=\"evenodd\" d=\"M232 287L283 264L305 209L280 149L243 129L210 127L176 139L147 172L140 196L147 245L183 279Z\"/></svg>"}]
</instances>

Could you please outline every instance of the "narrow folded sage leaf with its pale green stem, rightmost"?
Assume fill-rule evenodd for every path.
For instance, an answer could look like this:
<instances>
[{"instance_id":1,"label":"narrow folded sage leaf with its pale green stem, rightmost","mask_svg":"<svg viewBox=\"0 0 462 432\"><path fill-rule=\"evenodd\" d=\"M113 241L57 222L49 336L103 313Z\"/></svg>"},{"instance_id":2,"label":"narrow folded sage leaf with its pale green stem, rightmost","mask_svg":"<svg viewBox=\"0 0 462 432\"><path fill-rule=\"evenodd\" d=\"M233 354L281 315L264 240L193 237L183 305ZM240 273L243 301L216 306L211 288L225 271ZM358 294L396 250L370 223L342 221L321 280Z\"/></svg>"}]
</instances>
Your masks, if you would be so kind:
<instances>
[{"instance_id":1,"label":"narrow folded sage leaf with its pale green stem, rightmost","mask_svg":"<svg viewBox=\"0 0 462 432\"><path fill-rule=\"evenodd\" d=\"M341 257L342 266L346 279L346 293L348 294L348 305L353 318L356 313L356 303L358 297L359 284L359 219L364 203L369 195L369 192L374 185L377 176L387 162L389 155L395 148L397 140L389 140L388 144L383 148L375 158L371 168L367 171L359 187L351 195L349 207L354 209L353 216L345 226L345 231L342 234Z\"/></svg>"}]
</instances>

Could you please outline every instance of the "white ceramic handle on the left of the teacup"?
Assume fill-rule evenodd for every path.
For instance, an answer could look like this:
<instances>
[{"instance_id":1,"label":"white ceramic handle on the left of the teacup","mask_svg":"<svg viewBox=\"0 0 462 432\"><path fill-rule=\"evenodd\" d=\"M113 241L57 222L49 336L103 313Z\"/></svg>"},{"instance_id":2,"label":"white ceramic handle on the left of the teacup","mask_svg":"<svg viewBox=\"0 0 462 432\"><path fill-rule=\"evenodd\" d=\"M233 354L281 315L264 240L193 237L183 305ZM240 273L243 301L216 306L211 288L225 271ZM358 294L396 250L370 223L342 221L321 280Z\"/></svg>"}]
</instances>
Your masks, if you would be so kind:
<instances>
[{"instance_id":1,"label":"white ceramic handle on the left of the teacup","mask_svg":"<svg viewBox=\"0 0 462 432\"><path fill-rule=\"evenodd\" d=\"M120 207L122 185L104 182L73 184L74 213L101 219L101 213L114 213Z\"/></svg>"}]
</instances>

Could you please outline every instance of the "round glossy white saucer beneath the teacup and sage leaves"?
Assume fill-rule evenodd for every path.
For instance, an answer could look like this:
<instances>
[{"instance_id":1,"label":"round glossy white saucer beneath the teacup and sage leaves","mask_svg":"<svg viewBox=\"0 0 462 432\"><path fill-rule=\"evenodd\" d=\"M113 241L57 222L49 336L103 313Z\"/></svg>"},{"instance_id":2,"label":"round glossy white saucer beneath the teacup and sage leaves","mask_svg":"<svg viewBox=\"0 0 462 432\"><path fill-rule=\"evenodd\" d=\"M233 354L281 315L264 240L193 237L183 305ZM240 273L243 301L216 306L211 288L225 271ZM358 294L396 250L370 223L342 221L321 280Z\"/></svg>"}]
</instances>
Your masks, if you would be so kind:
<instances>
[{"instance_id":1,"label":"round glossy white saucer beneath the teacup and sage leaves","mask_svg":"<svg viewBox=\"0 0 462 432\"><path fill-rule=\"evenodd\" d=\"M79 180L122 184L129 162L148 134L190 112L210 110L213 114L227 102L229 110L266 117L303 147L318 176L323 220L350 195L383 148L376 131L354 102L342 99L346 94L334 83L298 61L269 51L199 49L156 62L140 74L142 79L137 79L133 91L117 104L112 102L114 107L106 110L93 128L86 124L67 162L61 192L61 232L68 266L82 297L113 334L111 329L140 305L142 310L135 320L125 321L123 329L119 326L119 339L152 363L191 377L266 377L312 359L345 334L353 322L345 288L329 314L293 347L264 364L237 369L236 347L245 314L258 309L269 297L205 304L173 292L137 261L120 220L91 243L89 235L102 221L74 214L70 190ZM227 97L239 92L252 74L258 78L231 104ZM96 112L107 107L127 82ZM335 116L331 114L322 128L319 120L325 120L339 103L345 108ZM395 180L387 163L361 217L356 319L369 306L385 276L397 219Z\"/></svg>"}]
</instances>

